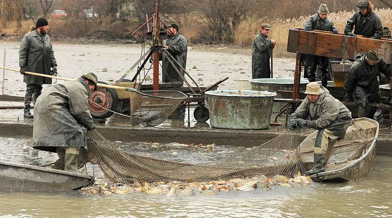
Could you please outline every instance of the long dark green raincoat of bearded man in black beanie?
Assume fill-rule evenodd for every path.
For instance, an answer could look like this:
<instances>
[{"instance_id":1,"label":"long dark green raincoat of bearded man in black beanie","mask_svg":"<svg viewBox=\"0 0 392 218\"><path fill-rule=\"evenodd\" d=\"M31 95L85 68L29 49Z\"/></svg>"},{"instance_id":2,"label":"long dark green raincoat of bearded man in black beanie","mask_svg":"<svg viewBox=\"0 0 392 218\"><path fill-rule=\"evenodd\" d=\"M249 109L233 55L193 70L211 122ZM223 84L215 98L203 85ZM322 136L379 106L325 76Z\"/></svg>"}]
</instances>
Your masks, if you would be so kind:
<instances>
[{"instance_id":1,"label":"long dark green raincoat of bearded man in black beanie","mask_svg":"<svg viewBox=\"0 0 392 218\"><path fill-rule=\"evenodd\" d=\"M25 34L19 48L19 67L25 71L51 75L50 68L57 68L50 38L47 34L41 39L37 29ZM23 81L29 84L52 84L51 78L24 75Z\"/></svg>"}]
</instances>

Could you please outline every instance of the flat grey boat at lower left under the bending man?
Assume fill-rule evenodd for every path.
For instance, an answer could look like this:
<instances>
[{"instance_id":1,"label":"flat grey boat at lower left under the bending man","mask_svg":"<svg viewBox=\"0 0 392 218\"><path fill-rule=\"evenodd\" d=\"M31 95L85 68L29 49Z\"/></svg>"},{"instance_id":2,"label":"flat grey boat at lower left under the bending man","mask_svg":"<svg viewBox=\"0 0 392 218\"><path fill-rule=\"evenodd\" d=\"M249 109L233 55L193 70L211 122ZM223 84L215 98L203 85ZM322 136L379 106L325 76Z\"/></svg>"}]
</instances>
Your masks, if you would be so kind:
<instances>
[{"instance_id":1,"label":"flat grey boat at lower left under the bending man","mask_svg":"<svg viewBox=\"0 0 392 218\"><path fill-rule=\"evenodd\" d=\"M93 181L86 174L0 161L0 191L69 191Z\"/></svg>"}]
</instances>

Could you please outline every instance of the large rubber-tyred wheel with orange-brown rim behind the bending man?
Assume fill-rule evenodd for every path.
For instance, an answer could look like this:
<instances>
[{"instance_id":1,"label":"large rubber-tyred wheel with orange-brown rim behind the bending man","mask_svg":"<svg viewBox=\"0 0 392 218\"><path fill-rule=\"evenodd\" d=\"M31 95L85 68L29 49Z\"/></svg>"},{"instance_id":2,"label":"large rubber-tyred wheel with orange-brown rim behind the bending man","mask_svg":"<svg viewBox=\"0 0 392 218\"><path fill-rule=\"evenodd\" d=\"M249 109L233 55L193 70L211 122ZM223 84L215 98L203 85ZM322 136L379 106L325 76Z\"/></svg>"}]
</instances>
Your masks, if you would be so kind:
<instances>
[{"instance_id":1,"label":"large rubber-tyred wheel with orange-brown rim behind the bending man","mask_svg":"<svg viewBox=\"0 0 392 218\"><path fill-rule=\"evenodd\" d=\"M107 84L101 81L98 83ZM116 110L119 101L116 90L104 87L98 87L98 89L92 93L90 99L95 102L89 101L91 116L98 119L106 119L112 116L113 112L111 111ZM105 108L111 111L108 111Z\"/></svg>"}]
</instances>

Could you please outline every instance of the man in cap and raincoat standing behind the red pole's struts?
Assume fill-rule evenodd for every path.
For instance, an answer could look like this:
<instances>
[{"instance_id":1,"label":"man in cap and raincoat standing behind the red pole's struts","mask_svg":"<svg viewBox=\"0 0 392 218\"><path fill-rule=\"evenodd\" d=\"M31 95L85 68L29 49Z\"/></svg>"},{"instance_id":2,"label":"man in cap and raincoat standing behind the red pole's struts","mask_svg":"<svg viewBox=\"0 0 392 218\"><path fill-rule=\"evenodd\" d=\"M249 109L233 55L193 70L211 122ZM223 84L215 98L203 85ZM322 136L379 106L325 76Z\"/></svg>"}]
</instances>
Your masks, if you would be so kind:
<instances>
[{"instance_id":1,"label":"man in cap and raincoat standing behind the red pole's struts","mask_svg":"<svg viewBox=\"0 0 392 218\"><path fill-rule=\"evenodd\" d=\"M179 26L177 24L168 24L168 27L169 28L166 30L166 45L164 48L169 51L173 58L185 69L188 51L187 40L178 33ZM172 30L172 32L170 30ZM182 72L180 67L177 66L177 69L184 75L184 72ZM162 80L163 82L184 82L165 55L162 55Z\"/></svg>"}]
</instances>

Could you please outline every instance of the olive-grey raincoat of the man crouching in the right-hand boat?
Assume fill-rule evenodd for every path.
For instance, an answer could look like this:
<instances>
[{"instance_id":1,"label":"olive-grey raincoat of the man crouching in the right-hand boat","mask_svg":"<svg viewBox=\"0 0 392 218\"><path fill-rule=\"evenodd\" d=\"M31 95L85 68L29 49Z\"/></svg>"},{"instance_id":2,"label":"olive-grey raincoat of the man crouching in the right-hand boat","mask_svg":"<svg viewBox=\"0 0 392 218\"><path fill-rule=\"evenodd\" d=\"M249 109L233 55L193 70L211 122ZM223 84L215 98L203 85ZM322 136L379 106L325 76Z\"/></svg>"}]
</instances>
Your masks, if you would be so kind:
<instances>
[{"instance_id":1,"label":"olive-grey raincoat of the man crouching in the right-hand boat","mask_svg":"<svg viewBox=\"0 0 392 218\"><path fill-rule=\"evenodd\" d=\"M323 93L320 94L316 102L311 102L306 97L295 112L291 115L290 121L298 118L311 120L311 126L314 129L328 129L336 136L344 139L348 126L351 125L351 112L335 97L329 94L329 91L321 87Z\"/></svg>"}]
</instances>

